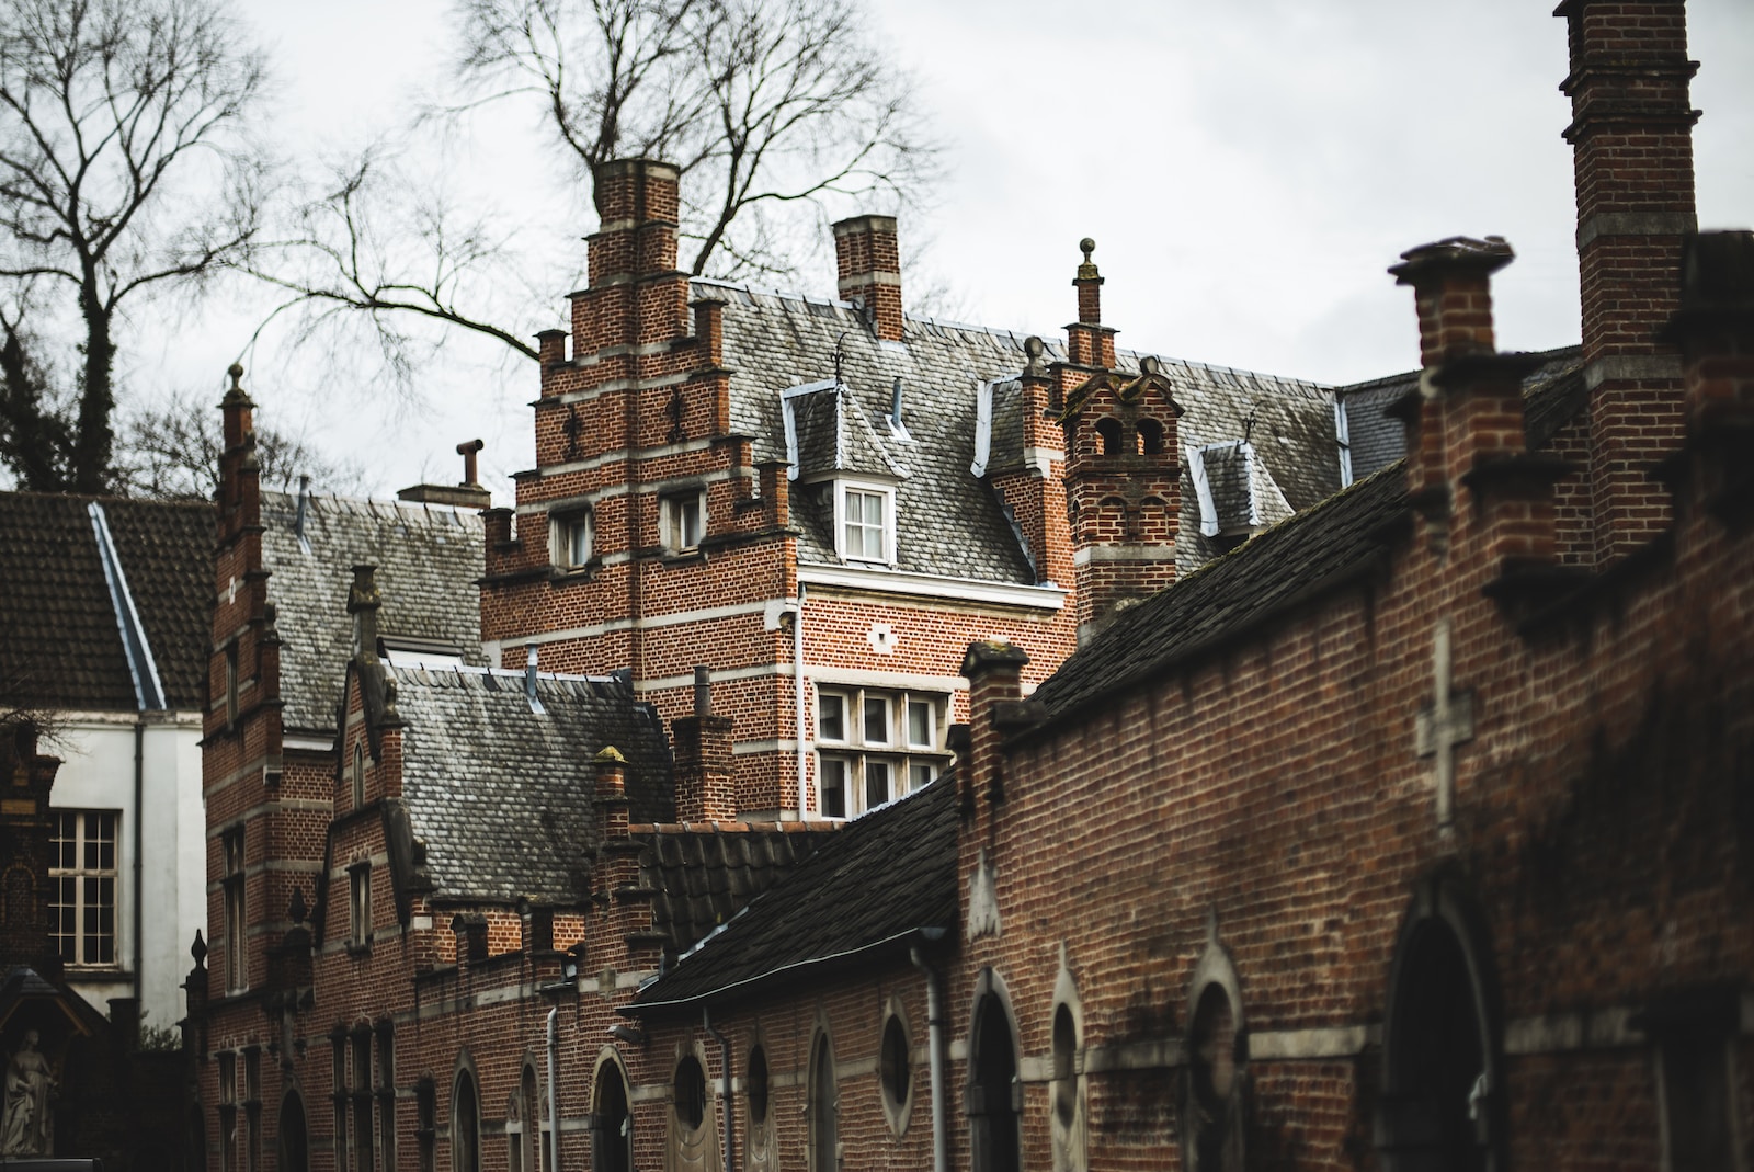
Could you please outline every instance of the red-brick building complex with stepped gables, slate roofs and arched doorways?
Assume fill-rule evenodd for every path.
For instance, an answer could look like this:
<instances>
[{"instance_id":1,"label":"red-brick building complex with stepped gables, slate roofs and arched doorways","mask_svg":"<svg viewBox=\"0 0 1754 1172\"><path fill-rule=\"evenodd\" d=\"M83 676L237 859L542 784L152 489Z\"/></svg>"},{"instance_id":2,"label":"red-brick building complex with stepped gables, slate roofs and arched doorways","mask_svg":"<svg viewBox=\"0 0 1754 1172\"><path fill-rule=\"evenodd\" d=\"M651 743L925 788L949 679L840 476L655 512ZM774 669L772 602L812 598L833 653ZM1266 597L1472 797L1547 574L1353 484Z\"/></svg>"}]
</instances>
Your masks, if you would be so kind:
<instances>
[{"instance_id":1,"label":"red-brick building complex with stepped gables, slate roofs and arched doorways","mask_svg":"<svg viewBox=\"0 0 1754 1172\"><path fill-rule=\"evenodd\" d=\"M1575 351L1494 239L1337 395L1116 351L1089 249L1056 347L881 218L689 281L631 161L484 530L293 540L228 398L209 1167L1745 1167L1754 244L1682 4L1561 16Z\"/></svg>"}]
</instances>

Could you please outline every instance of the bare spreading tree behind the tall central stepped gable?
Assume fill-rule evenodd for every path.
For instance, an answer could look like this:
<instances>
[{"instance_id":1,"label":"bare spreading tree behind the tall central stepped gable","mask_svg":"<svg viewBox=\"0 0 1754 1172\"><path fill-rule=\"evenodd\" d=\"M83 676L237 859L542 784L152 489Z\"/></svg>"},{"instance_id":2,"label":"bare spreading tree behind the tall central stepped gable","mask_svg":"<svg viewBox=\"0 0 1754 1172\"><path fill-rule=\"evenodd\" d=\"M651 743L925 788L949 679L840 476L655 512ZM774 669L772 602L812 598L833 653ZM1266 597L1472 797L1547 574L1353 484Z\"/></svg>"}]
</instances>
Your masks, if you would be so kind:
<instances>
[{"instance_id":1,"label":"bare spreading tree behind the tall central stepped gable","mask_svg":"<svg viewBox=\"0 0 1754 1172\"><path fill-rule=\"evenodd\" d=\"M937 147L863 25L859 0L460 0L467 111L533 100L586 184L598 163L663 158L682 172L681 235L696 275L796 270L835 197L905 204ZM246 268L307 311L302 330L365 319L410 377L423 319L526 340L553 289L510 274L507 235L431 198L382 147L307 202ZM514 288L523 277L523 288ZM421 333L421 337L431 337Z\"/></svg>"}]
</instances>

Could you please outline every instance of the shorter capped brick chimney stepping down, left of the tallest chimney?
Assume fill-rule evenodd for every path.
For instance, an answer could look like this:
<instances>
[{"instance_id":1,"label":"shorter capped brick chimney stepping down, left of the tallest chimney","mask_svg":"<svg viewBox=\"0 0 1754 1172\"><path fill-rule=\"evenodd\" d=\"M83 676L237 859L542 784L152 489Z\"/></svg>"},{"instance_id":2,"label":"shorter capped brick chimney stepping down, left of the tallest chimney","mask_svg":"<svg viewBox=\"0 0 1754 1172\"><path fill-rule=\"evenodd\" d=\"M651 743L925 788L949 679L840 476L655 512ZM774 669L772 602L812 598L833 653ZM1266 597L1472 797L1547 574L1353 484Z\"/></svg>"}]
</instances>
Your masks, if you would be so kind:
<instances>
[{"instance_id":1,"label":"shorter capped brick chimney stepping down, left of the tallest chimney","mask_svg":"<svg viewBox=\"0 0 1754 1172\"><path fill-rule=\"evenodd\" d=\"M1554 570L1552 484L1570 465L1529 456L1522 377L1538 356L1500 354L1491 275L1515 254L1501 237L1451 237L1389 268L1419 312L1419 405L1407 474L1430 546L1484 567L1486 591L1514 609L1565 584Z\"/></svg>"}]
</instances>

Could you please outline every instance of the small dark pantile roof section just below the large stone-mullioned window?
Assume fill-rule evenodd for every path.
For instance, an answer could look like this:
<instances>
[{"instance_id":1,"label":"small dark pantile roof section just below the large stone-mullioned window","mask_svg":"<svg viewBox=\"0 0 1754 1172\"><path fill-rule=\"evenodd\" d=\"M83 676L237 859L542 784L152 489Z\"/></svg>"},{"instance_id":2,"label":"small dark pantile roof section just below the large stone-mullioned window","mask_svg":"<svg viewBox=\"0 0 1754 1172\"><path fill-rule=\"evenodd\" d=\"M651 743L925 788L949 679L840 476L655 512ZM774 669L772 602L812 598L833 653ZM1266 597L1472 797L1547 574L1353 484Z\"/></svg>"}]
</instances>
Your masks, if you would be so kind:
<instances>
[{"instance_id":1,"label":"small dark pantile roof section just below the large stone-mullioned window","mask_svg":"<svg viewBox=\"0 0 1754 1172\"><path fill-rule=\"evenodd\" d=\"M633 826L645 839L640 886L652 897L652 932L674 958L784 879L840 823L712 823Z\"/></svg>"}]
</instances>

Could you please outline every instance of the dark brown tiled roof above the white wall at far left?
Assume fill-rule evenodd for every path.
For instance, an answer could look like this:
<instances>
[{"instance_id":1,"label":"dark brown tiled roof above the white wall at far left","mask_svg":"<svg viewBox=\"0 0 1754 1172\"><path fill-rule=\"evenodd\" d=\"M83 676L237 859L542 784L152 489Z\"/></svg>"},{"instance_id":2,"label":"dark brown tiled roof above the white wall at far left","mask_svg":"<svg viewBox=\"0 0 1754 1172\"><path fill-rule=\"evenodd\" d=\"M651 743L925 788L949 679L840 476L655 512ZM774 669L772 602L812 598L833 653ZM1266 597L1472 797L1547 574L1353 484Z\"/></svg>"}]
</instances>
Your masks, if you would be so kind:
<instances>
[{"instance_id":1,"label":"dark brown tiled roof above the white wall at far left","mask_svg":"<svg viewBox=\"0 0 1754 1172\"><path fill-rule=\"evenodd\" d=\"M207 704L214 509L0 493L0 688L51 709L139 707L89 505L103 511L174 711Z\"/></svg>"}]
</instances>

